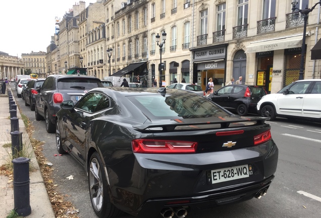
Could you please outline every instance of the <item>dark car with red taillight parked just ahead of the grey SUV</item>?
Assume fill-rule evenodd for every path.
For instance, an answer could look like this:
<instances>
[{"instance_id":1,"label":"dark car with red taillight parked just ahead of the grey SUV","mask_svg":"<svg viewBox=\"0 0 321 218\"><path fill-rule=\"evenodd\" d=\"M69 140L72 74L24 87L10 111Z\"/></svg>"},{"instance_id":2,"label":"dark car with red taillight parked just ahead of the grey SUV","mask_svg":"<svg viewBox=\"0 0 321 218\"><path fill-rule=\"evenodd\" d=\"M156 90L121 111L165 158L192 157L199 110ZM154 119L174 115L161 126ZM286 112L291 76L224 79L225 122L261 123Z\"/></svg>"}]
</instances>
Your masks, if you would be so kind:
<instances>
[{"instance_id":1,"label":"dark car with red taillight parked just ahead of the grey SUV","mask_svg":"<svg viewBox=\"0 0 321 218\"><path fill-rule=\"evenodd\" d=\"M30 80L25 87L23 87L23 94L21 97L25 100L25 105L30 105L30 110L35 110L35 96L38 94L37 88L41 88L45 79Z\"/></svg>"}]
</instances>

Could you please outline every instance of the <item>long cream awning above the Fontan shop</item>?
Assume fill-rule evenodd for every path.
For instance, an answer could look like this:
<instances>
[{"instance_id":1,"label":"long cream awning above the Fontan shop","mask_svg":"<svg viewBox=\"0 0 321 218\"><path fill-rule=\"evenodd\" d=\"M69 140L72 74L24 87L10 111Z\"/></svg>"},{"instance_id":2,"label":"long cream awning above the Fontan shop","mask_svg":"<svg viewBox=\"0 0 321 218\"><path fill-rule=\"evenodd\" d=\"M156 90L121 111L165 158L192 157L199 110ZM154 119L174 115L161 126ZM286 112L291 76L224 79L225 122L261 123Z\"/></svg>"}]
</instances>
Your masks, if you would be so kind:
<instances>
[{"instance_id":1,"label":"long cream awning above the Fontan shop","mask_svg":"<svg viewBox=\"0 0 321 218\"><path fill-rule=\"evenodd\" d=\"M280 50L294 47L302 47L302 35L252 42L246 47L245 53Z\"/></svg>"}]
</instances>

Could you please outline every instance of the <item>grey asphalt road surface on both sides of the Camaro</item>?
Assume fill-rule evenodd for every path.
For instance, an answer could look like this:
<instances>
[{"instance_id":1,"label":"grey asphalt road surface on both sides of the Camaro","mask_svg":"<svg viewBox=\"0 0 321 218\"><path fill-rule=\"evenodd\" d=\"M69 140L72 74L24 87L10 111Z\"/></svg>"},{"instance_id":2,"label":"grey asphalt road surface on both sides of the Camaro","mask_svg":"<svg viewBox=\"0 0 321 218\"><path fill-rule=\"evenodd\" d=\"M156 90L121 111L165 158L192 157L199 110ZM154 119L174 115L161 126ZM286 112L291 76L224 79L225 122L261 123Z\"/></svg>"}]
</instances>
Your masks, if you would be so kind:
<instances>
[{"instance_id":1,"label":"grey asphalt road surface on both sides of the Camaro","mask_svg":"<svg viewBox=\"0 0 321 218\"><path fill-rule=\"evenodd\" d=\"M84 169L68 154L55 156L58 154L55 134L46 132L44 121L35 120L34 112L17 97L15 86L11 87L21 113L35 126L33 137L45 142L43 154L53 165L53 182L58 185L58 192L66 195L66 199L79 210L79 217L95 218ZM267 194L261 199L204 211L194 210L187 214L187 218L321 216L321 123L288 119L269 123L272 137L279 147L279 162L275 180ZM71 175L74 179L67 179ZM124 215L121 218L133 216Z\"/></svg>"}]
</instances>

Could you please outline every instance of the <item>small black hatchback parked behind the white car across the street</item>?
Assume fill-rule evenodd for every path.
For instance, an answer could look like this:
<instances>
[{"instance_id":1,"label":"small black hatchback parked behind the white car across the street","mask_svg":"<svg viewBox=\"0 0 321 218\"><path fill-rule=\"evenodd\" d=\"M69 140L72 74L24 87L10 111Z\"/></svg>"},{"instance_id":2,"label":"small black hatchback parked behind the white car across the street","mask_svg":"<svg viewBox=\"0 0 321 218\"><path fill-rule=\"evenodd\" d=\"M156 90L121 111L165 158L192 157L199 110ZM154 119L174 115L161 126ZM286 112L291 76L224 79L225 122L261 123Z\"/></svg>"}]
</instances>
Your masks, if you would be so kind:
<instances>
[{"instance_id":1,"label":"small black hatchback parked behind the white car across the street","mask_svg":"<svg viewBox=\"0 0 321 218\"><path fill-rule=\"evenodd\" d=\"M207 98L231 112L246 116L248 112L257 113L256 104L264 95L266 91L261 86L227 85L208 95Z\"/></svg>"}]
</instances>

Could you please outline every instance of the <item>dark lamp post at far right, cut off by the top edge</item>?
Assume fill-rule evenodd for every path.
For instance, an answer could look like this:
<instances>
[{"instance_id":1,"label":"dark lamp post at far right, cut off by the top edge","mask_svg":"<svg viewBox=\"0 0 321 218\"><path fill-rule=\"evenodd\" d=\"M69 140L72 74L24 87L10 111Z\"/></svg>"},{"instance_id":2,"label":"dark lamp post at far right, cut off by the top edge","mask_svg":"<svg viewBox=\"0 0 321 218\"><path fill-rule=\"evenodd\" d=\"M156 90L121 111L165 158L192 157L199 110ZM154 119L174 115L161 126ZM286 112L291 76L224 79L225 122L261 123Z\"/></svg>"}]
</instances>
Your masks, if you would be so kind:
<instances>
[{"instance_id":1,"label":"dark lamp post at far right, cut off by the top edge","mask_svg":"<svg viewBox=\"0 0 321 218\"><path fill-rule=\"evenodd\" d=\"M306 24L307 24L307 19L308 19L308 14L313 11L313 9L315 8L315 6L317 6L318 4L320 4L321 6L321 1L319 1L318 3L316 3L311 9L309 9L307 6L305 7L305 9L298 9L296 7L296 5L298 4L298 2L292 2L292 12L295 12L295 10L298 10L298 12L300 12L303 15L303 19L304 19L304 25L303 25L303 38L302 38L302 51L301 51L301 63L300 63L300 72L299 72L299 80L303 80L303 71L304 71L304 53L305 53L305 34L306 34Z\"/></svg>"}]
</instances>

